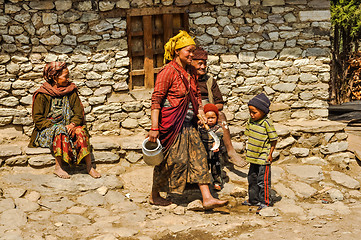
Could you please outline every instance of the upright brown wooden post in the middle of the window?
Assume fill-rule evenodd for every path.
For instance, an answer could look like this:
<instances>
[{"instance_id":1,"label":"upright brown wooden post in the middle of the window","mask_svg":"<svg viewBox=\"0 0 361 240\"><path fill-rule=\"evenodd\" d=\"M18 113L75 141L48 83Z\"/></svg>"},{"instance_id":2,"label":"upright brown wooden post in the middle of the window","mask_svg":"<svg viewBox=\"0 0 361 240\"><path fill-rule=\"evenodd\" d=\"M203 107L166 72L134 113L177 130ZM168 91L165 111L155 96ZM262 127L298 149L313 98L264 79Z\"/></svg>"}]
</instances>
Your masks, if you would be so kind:
<instances>
[{"instance_id":1,"label":"upright brown wooden post in the middle of the window","mask_svg":"<svg viewBox=\"0 0 361 240\"><path fill-rule=\"evenodd\" d=\"M153 24L152 16L143 16L144 31L144 86L154 87L154 62L153 62Z\"/></svg>"}]
</instances>

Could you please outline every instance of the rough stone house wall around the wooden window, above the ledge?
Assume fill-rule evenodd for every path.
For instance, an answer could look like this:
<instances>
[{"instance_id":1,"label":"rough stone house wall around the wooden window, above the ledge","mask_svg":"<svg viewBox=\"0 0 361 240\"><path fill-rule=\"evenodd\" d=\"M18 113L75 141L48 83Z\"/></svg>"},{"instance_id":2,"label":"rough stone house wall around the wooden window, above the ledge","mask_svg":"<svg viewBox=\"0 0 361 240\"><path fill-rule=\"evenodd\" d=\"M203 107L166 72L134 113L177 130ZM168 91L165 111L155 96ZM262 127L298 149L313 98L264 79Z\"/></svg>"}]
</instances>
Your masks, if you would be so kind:
<instances>
[{"instance_id":1,"label":"rough stone house wall around the wooden window, above the ledge","mask_svg":"<svg viewBox=\"0 0 361 240\"><path fill-rule=\"evenodd\" d=\"M330 80L328 0L0 0L0 128L29 134L32 93L46 62L66 61L92 134L144 133L152 90L129 90L125 17L107 12L208 3L189 27L209 53L209 72L234 126L264 91L271 118L325 119Z\"/></svg>"}]
</instances>

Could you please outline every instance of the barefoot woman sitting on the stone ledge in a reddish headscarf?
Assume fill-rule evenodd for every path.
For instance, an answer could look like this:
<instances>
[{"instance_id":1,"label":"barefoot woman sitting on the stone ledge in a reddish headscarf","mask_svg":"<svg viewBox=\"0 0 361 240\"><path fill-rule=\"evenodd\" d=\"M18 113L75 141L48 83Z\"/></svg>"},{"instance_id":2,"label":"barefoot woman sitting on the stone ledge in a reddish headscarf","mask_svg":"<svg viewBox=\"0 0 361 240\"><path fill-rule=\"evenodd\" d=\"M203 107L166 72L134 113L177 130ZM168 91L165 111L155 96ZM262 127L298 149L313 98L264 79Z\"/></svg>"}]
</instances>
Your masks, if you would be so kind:
<instances>
[{"instance_id":1,"label":"barefoot woman sitting on the stone ledge in a reddish headscarf","mask_svg":"<svg viewBox=\"0 0 361 240\"><path fill-rule=\"evenodd\" d=\"M73 165L82 159L90 176L99 178L100 174L91 163L83 105L77 87L69 82L66 63L46 64L44 79L46 82L33 96L35 128L29 147L50 148L55 156L54 174L60 178L69 178L62 161Z\"/></svg>"}]
</instances>

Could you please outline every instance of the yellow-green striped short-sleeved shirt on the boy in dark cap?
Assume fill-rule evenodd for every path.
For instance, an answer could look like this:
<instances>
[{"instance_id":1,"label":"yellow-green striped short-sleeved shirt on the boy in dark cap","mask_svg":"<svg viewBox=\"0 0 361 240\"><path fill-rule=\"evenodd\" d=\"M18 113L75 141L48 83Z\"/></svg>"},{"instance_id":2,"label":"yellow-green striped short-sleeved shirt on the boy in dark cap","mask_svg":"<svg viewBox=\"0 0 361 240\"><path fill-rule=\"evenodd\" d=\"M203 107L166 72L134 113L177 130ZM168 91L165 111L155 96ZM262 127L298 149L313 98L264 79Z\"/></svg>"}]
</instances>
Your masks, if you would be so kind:
<instances>
[{"instance_id":1,"label":"yellow-green striped short-sleeved shirt on the boy in dark cap","mask_svg":"<svg viewBox=\"0 0 361 240\"><path fill-rule=\"evenodd\" d=\"M244 134L248 136L246 161L265 165L271 149L271 142L278 138L272 121L268 117L256 122L249 119Z\"/></svg>"}]
</instances>

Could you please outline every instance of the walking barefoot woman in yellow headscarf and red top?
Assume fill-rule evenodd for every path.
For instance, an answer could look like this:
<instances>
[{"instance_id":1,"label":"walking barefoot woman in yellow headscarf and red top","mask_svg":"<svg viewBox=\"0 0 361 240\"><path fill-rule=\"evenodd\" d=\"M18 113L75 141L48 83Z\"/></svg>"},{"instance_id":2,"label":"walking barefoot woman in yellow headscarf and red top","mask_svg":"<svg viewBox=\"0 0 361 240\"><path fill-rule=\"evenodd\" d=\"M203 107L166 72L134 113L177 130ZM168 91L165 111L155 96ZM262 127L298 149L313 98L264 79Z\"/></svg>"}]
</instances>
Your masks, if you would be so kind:
<instances>
[{"instance_id":1,"label":"walking barefoot woman in yellow headscarf and red top","mask_svg":"<svg viewBox=\"0 0 361 240\"><path fill-rule=\"evenodd\" d=\"M159 138L165 150L163 162L154 167L151 204L171 204L159 192L181 194L187 183L198 184L206 209L228 203L213 198L208 186L207 153L196 129L196 115L204 113L196 71L191 66L195 48L186 31L180 31L164 46L164 61L170 62L157 75L148 136L152 142Z\"/></svg>"}]
</instances>

